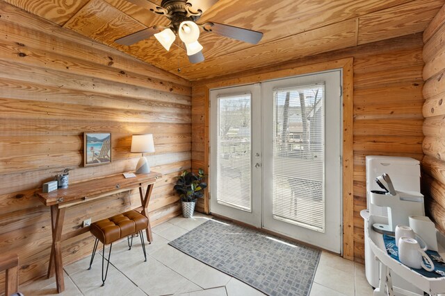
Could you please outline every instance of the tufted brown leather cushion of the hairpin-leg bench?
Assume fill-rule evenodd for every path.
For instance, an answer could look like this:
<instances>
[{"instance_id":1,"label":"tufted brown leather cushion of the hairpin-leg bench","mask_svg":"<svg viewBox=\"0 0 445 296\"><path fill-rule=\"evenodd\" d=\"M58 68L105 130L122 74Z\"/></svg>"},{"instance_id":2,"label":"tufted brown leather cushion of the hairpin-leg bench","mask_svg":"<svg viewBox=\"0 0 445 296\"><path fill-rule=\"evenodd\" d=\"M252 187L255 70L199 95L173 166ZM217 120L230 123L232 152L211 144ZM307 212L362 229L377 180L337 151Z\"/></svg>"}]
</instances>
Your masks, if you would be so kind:
<instances>
[{"instance_id":1,"label":"tufted brown leather cushion of the hairpin-leg bench","mask_svg":"<svg viewBox=\"0 0 445 296\"><path fill-rule=\"evenodd\" d=\"M148 219L138 211L127 211L91 225L91 234L105 245L147 228Z\"/></svg>"}]
</instances>

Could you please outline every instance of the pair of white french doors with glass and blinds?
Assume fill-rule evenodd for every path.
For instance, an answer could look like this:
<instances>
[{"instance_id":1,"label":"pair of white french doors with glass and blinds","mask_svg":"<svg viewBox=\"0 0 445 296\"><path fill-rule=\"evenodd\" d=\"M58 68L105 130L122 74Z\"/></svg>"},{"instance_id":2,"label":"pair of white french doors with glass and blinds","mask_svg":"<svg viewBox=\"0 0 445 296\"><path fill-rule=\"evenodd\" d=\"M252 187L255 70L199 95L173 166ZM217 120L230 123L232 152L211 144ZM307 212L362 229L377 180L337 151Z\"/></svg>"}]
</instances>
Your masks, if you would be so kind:
<instances>
[{"instance_id":1,"label":"pair of white french doors with glass and blinds","mask_svg":"<svg viewBox=\"0 0 445 296\"><path fill-rule=\"evenodd\" d=\"M341 71L211 91L211 212L341 253Z\"/></svg>"}]
</instances>

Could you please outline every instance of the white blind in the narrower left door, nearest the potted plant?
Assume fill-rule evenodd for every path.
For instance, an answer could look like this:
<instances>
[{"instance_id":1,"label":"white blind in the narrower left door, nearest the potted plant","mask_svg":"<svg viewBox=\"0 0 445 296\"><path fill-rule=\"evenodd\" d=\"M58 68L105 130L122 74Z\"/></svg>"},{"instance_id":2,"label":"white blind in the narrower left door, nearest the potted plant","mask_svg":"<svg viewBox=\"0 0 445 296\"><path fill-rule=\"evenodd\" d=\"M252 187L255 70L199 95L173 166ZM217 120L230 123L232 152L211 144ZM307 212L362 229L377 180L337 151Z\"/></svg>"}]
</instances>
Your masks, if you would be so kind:
<instances>
[{"instance_id":1,"label":"white blind in the narrower left door, nearest the potted plant","mask_svg":"<svg viewBox=\"0 0 445 296\"><path fill-rule=\"evenodd\" d=\"M252 211L251 94L218 96L217 202Z\"/></svg>"}]
</instances>

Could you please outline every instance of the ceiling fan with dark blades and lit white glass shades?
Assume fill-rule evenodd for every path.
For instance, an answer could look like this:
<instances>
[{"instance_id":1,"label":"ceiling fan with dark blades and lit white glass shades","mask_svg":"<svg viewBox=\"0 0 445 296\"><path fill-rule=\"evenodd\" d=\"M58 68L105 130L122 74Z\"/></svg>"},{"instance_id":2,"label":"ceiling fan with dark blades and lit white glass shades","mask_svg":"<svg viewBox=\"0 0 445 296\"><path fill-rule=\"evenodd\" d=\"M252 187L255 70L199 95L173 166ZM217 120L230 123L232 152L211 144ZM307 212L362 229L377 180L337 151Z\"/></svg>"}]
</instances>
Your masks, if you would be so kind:
<instances>
[{"instance_id":1,"label":"ceiling fan with dark blades and lit white glass shades","mask_svg":"<svg viewBox=\"0 0 445 296\"><path fill-rule=\"evenodd\" d=\"M206 32L216 33L252 44L257 44L263 37L261 32L218 24L213 21L197 24L196 21L200 19L202 13L218 2L218 0L162 0L161 6L148 0L127 1L145 8L156 15L167 17L170 19L170 24L168 26L152 26L121 37L115 40L118 44L129 46L154 35L168 51L173 42L175 42L176 36L179 35L179 39L186 46L188 60L191 63L197 63L204 60L202 45L197 41L200 37L200 27Z\"/></svg>"}]
</instances>

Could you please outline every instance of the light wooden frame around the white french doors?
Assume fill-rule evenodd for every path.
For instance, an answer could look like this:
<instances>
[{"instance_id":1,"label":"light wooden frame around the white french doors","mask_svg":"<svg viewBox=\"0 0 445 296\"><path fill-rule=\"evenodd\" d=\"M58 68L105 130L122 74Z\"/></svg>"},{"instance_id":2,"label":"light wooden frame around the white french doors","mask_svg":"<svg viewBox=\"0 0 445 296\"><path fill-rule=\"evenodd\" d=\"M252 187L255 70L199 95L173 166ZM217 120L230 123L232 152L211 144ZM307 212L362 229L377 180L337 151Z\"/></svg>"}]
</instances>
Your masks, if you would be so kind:
<instances>
[{"instance_id":1,"label":"light wooden frame around the white french doors","mask_svg":"<svg viewBox=\"0 0 445 296\"><path fill-rule=\"evenodd\" d=\"M289 76L298 76L307 73L314 73L320 71L328 71L333 69L343 69L343 145L342 145L342 175L343 175L343 258L353 260L354 259L354 194L353 194L353 58L343 58L341 60L332 60L327 62L321 62L318 64L302 65L298 67L281 69L277 71L255 73L250 72L242 77L237 78L214 78L211 80L205 80L204 82L195 82L193 84L192 95L195 98L200 98L204 105L197 105L192 107L192 115L195 108L201 110L204 108L204 116L201 117L201 121L193 121L193 124L202 125L202 134L193 137L202 137L204 141L203 157L201 162L193 161L192 168L209 168L209 97L210 89L216 89L220 87L229 87L236 85L253 84L265 80L272 80L277 78L286 78ZM275 67L275 69L277 69ZM263 70L265 71L265 70ZM192 154L193 158L193 154ZM198 204L206 214L209 214L209 194L208 191L203 200L203 204Z\"/></svg>"}]
</instances>

